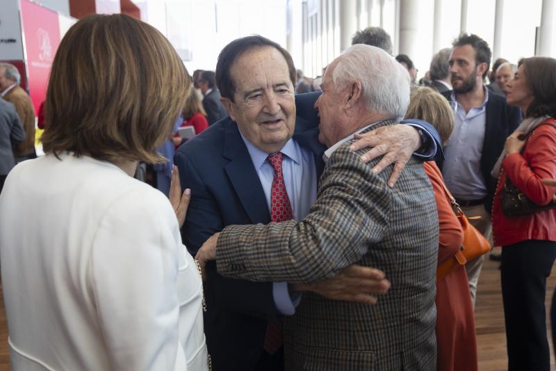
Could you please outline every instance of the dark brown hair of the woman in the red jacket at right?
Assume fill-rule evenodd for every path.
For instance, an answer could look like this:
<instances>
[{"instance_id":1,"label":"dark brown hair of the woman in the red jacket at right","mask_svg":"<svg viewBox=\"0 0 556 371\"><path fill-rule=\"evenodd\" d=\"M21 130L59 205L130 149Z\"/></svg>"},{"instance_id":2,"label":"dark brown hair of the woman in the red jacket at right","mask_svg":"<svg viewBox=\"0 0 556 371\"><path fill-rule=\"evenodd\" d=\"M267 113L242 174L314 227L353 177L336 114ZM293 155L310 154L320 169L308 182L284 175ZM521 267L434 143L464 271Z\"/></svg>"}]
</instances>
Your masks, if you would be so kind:
<instances>
[{"instance_id":1,"label":"dark brown hair of the woman in the red jacket at right","mask_svg":"<svg viewBox=\"0 0 556 371\"><path fill-rule=\"evenodd\" d=\"M525 117L548 115L556 118L556 59L532 56L523 58L519 65L523 65L525 84L534 95Z\"/></svg>"}]
</instances>

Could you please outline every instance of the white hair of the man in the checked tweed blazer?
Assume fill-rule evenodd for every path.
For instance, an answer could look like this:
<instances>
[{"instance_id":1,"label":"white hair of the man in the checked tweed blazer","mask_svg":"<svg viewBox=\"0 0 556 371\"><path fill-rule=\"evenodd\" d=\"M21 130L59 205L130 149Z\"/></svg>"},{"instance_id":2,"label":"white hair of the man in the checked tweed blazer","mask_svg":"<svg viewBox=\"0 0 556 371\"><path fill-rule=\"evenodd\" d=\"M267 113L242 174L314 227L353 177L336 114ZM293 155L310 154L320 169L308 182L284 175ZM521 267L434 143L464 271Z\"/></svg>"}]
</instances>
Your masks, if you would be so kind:
<instances>
[{"instance_id":1,"label":"white hair of the man in the checked tweed blazer","mask_svg":"<svg viewBox=\"0 0 556 371\"><path fill-rule=\"evenodd\" d=\"M336 89L361 81L368 111L401 120L409 105L409 74L383 49L357 44L345 50L332 73Z\"/></svg>"}]
</instances>

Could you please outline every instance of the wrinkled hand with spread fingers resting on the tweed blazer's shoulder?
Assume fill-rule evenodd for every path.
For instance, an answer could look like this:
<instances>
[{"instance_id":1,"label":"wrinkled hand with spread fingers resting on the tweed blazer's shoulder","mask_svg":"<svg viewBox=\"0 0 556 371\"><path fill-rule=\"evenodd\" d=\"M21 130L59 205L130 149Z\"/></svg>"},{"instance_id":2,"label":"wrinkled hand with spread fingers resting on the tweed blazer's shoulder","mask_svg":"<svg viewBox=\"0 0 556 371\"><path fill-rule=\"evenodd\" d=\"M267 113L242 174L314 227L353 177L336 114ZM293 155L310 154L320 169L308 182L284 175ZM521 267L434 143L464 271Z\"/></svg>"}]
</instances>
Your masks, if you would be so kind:
<instances>
[{"instance_id":1,"label":"wrinkled hand with spread fingers resting on the tweed blazer's shoulder","mask_svg":"<svg viewBox=\"0 0 556 371\"><path fill-rule=\"evenodd\" d=\"M373 147L372 150L361 156L361 161L368 162L384 155L373 168L373 173L378 174L386 166L395 163L392 175L388 180L389 187L394 187L405 164L421 144L417 130L409 125L379 127L365 134L355 134L354 139L356 141L351 146L352 150Z\"/></svg>"}]
</instances>

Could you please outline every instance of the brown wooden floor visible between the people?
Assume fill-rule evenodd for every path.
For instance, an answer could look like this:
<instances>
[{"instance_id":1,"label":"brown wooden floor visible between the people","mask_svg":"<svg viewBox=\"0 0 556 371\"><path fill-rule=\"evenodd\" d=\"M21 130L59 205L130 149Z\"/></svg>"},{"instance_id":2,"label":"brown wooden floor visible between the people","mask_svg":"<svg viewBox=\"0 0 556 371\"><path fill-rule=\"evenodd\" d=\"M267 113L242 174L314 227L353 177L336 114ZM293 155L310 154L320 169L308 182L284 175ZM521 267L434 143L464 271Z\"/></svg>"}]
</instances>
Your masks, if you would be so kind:
<instances>
[{"instance_id":1,"label":"brown wooden floor visible between the people","mask_svg":"<svg viewBox=\"0 0 556 371\"><path fill-rule=\"evenodd\" d=\"M550 299L556 284L556 269L548 280L546 290L547 313ZM486 259L482 269L477 291L477 346L479 349L480 371L505 371L506 338L504 331L504 314L502 311L502 294L500 293L500 271L498 262ZM549 327L548 323L547 326ZM550 333L549 333L550 338ZM8 359L8 328L4 311L2 290L0 285L0 371L10 370ZM552 344L552 342L550 342ZM552 370L556 370L554 357L551 354Z\"/></svg>"}]
</instances>

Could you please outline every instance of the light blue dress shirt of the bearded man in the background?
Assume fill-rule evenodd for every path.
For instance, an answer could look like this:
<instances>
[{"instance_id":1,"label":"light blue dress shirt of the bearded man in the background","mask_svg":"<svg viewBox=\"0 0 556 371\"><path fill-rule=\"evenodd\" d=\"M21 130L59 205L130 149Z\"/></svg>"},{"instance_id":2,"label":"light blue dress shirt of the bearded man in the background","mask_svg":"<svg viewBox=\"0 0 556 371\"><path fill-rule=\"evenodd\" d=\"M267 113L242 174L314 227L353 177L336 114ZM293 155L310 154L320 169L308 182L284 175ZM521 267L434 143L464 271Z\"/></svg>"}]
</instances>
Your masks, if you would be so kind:
<instances>
[{"instance_id":1,"label":"light blue dress shirt of the bearded man in the background","mask_svg":"<svg viewBox=\"0 0 556 371\"><path fill-rule=\"evenodd\" d=\"M444 147L442 175L452 195L459 200L480 200L487 194L481 171L486 102L489 102L489 89L484 88L484 102L466 113L452 92L455 125Z\"/></svg>"}]
</instances>

